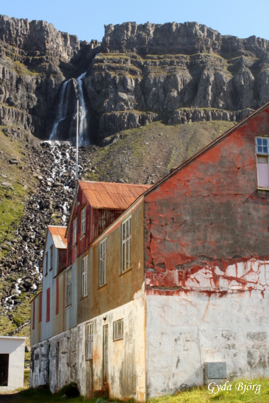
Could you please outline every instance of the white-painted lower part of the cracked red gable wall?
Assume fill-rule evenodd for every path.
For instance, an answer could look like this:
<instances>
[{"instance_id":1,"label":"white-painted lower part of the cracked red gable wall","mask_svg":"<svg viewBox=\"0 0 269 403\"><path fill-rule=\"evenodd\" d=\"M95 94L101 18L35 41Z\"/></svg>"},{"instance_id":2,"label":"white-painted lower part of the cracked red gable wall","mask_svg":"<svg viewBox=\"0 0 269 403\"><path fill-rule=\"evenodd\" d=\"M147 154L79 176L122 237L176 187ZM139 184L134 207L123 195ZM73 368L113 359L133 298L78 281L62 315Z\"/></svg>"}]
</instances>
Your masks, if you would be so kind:
<instances>
[{"instance_id":1,"label":"white-painted lower part of the cracked red gable wall","mask_svg":"<svg viewBox=\"0 0 269 403\"><path fill-rule=\"evenodd\" d=\"M249 261L236 270L228 266L222 279L218 268L216 287L204 267L186 282L188 292L146 296L147 397L204 384L205 362L225 361L229 378L268 376L269 264Z\"/></svg>"}]
</instances>

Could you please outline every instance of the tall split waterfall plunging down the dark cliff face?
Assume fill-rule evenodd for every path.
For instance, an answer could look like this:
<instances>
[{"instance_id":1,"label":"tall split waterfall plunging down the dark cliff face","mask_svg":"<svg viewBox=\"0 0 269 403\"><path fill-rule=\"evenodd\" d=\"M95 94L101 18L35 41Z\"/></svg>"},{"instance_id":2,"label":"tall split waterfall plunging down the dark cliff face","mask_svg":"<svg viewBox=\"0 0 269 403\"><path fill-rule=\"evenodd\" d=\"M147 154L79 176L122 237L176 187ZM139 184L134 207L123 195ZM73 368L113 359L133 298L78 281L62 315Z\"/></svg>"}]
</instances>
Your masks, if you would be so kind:
<instances>
[{"instance_id":1,"label":"tall split waterfall plunging down the dark cliff face","mask_svg":"<svg viewBox=\"0 0 269 403\"><path fill-rule=\"evenodd\" d=\"M89 144L88 132L87 132L88 125L87 125L87 119L86 119L87 109L86 109L86 105L85 105L83 88L82 88L82 80L84 79L86 74L87 74L87 72L83 73L76 79L76 81L77 81L76 95L79 99L79 122L80 122L79 123L79 147ZM56 119L55 119L53 128L51 130L49 140L60 139L60 133L58 132L60 130L59 123L62 120L66 119L67 117L70 117L70 116L68 116L68 109L69 109L70 90L72 87L73 80L74 79L65 81L61 87ZM77 110L75 109L73 112L74 119L76 118L76 114L77 114Z\"/></svg>"}]
</instances>

